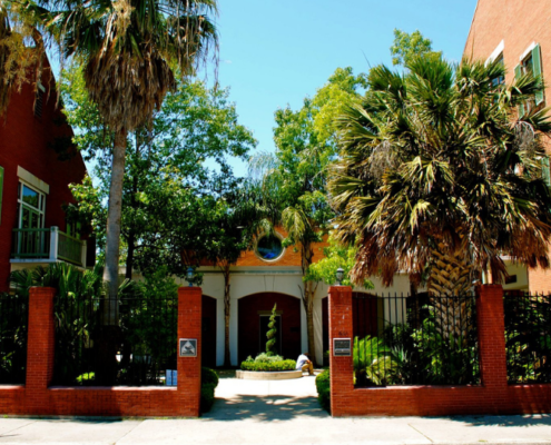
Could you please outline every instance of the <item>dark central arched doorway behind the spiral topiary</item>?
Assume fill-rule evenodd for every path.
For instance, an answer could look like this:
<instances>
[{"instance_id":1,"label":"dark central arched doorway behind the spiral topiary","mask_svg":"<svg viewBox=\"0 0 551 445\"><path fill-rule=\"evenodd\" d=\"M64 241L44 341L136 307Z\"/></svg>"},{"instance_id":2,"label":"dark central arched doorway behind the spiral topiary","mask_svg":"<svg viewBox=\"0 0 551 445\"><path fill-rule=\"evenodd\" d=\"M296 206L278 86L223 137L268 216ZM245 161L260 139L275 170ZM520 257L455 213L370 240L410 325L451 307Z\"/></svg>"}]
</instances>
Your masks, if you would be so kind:
<instances>
[{"instance_id":1,"label":"dark central arched doorway behind the spiral topiary","mask_svg":"<svg viewBox=\"0 0 551 445\"><path fill-rule=\"evenodd\" d=\"M266 325L277 304L278 353L296 359L301 354L301 300L285 294L259 293L238 300L238 358L266 349Z\"/></svg>"}]
</instances>

